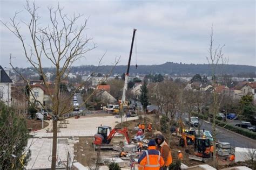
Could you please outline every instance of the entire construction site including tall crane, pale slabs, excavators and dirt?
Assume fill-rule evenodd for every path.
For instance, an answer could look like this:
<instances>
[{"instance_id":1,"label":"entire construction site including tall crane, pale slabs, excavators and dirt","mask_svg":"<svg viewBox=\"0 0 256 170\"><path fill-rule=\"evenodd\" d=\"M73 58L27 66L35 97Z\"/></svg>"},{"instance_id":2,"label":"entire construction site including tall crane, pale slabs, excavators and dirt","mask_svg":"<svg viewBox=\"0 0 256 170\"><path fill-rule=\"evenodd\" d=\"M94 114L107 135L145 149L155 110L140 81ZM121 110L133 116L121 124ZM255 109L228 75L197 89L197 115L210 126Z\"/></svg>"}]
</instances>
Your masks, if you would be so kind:
<instances>
[{"instance_id":1,"label":"entire construction site including tall crane, pale slabs, excavators and dirt","mask_svg":"<svg viewBox=\"0 0 256 170\"><path fill-rule=\"evenodd\" d=\"M126 101L126 90L135 32L136 29L133 30L122 100L96 114L79 111L81 103L75 106L77 96L74 96L75 115L58 121L56 168L112 169L110 165L115 164L122 169L138 169L139 158L152 146L148 145L149 141L156 144L157 135L161 134L171 151L169 169L255 169L255 140L250 139L252 149L233 147L213 139L210 131L198 130L198 117L184 121L180 116L163 123L160 119L165 115L158 110L131 107ZM45 125L30 133L31 159L27 169L51 167L52 120L48 119Z\"/></svg>"}]
</instances>

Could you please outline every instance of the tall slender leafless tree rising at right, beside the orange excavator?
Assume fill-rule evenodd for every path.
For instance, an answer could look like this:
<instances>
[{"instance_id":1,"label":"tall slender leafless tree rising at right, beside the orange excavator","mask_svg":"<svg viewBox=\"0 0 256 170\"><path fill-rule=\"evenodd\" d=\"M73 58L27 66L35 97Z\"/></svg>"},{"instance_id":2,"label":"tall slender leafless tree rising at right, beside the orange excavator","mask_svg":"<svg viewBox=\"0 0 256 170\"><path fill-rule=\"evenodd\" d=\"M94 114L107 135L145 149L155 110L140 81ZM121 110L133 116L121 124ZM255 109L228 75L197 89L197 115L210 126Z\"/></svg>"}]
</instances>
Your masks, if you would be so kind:
<instances>
[{"instance_id":1,"label":"tall slender leafless tree rising at right, beside the orange excavator","mask_svg":"<svg viewBox=\"0 0 256 170\"><path fill-rule=\"evenodd\" d=\"M218 83L217 83L217 70L219 70L221 73L221 70L223 69L224 65L227 64L228 59L224 57L223 54L223 46L218 46L217 48L213 47L213 27L211 28L211 34L210 34L210 47L208 49L209 56L206 57L208 64L211 68L211 75L212 75L212 102L210 106L210 111L213 115L212 118L212 137L213 137L213 155L214 155L214 162L215 167L218 166L218 162L216 160L216 117L220 109L220 104L223 100L223 97L220 95L220 93L217 91ZM220 74L219 74L220 75Z\"/></svg>"}]
</instances>

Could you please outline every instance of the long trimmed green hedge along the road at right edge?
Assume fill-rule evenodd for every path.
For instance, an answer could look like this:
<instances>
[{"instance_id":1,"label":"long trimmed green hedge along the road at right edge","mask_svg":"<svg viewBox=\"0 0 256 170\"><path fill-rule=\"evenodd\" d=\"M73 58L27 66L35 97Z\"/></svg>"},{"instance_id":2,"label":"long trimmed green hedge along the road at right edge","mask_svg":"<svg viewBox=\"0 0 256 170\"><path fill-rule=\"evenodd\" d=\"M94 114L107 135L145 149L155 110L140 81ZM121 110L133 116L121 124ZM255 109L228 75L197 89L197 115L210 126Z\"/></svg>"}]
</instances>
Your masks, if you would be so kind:
<instances>
[{"instance_id":1,"label":"long trimmed green hedge along the road at right edge","mask_svg":"<svg viewBox=\"0 0 256 170\"><path fill-rule=\"evenodd\" d=\"M212 121L212 119L211 119L211 121ZM242 134L242 135L247 136L249 138L256 139L256 133L255 132L252 132L252 131L244 129L244 128L240 128L238 126L234 126L233 124L226 123L226 122L223 122L223 121L218 121L216 119L216 125L218 125L220 127L223 127L225 129L231 130L233 132Z\"/></svg>"}]
</instances>

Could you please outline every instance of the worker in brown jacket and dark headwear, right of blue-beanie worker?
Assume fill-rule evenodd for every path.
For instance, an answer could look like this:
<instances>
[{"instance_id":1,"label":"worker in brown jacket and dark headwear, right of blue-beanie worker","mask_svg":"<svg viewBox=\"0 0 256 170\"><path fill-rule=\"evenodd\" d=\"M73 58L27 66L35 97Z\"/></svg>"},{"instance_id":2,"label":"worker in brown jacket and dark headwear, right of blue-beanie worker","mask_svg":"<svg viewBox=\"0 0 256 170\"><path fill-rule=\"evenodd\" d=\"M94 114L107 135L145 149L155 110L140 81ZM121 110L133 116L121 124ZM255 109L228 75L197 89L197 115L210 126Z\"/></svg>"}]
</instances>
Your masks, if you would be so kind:
<instances>
[{"instance_id":1,"label":"worker in brown jacket and dark headwear, right of blue-beanie worker","mask_svg":"<svg viewBox=\"0 0 256 170\"><path fill-rule=\"evenodd\" d=\"M156 137L157 150L160 151L161 156L164 159L165 164L160 168L161 170L166 170L170 164L172 164L172 154L171 149L164 140L162 134L157 134Z\"/></svg>"}]
</instances>

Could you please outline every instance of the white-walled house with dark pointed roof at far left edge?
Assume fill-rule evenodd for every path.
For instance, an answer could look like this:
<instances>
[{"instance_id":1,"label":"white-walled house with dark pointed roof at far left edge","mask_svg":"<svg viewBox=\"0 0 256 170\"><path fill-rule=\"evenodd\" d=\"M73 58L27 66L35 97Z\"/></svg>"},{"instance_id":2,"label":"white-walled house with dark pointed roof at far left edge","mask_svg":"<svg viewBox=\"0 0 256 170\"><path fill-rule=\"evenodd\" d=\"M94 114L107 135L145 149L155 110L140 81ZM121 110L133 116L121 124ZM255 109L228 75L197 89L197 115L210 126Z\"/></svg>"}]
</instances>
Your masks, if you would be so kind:
<instances>
[{"instance_id":1,"label":"white-walled house with dark pointed roof at far left edge","mask_svg":"<svg viewBox=\"0 0 256 170\"><path fill-rule=\"evenodd\" d=\"M0 66L0 100L10 106L11 102L11 84L12 80L6 74L2 66Z\"/></svg>"}]
</instances>

